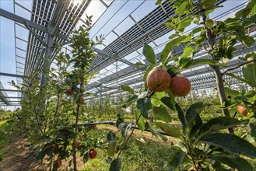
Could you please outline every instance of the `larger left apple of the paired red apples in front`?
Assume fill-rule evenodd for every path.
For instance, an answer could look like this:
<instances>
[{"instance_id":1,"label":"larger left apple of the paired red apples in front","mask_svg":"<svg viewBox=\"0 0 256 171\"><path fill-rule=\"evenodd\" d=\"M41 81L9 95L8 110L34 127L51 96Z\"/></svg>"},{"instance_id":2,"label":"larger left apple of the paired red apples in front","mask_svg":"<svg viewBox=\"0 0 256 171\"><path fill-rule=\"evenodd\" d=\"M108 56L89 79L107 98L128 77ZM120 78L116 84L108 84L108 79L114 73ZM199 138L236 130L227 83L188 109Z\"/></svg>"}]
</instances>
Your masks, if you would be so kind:
<instances>
[{"instance_id":1,"label":"larger left apple of the paired red apples in front","mask_svg":"<svg viewBox=\"0 0 256 171\"><path fill-rule=\"evenodd\" d=\"M151 91L163 92L170 86L170 75L161 68L153 68L146 78L146 84Z\"/></svg>"}]
</instances>

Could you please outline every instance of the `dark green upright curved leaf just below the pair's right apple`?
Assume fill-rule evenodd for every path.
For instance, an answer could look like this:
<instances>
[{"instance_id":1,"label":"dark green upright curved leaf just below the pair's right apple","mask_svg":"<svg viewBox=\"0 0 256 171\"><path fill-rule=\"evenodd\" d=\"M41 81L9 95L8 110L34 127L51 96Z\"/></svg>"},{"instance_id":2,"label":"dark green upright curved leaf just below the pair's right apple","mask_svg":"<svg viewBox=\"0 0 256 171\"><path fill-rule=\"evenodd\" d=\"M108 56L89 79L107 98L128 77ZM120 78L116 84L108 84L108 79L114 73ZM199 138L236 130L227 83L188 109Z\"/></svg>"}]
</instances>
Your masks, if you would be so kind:
<instances>
[{"instance_id":1,"label":"dark green upright curved leaf just below the pair's right apple","mask_svg":"<svg viewBox=\"0 0 256 171\"><path fill-rule=\"evenodd\" d=\"M202 102L192 104L186 112L186 121L188 127L193 127L195 125L195 117L198 113L201 113L204 105Z\"/></svg>"}]
</instances>

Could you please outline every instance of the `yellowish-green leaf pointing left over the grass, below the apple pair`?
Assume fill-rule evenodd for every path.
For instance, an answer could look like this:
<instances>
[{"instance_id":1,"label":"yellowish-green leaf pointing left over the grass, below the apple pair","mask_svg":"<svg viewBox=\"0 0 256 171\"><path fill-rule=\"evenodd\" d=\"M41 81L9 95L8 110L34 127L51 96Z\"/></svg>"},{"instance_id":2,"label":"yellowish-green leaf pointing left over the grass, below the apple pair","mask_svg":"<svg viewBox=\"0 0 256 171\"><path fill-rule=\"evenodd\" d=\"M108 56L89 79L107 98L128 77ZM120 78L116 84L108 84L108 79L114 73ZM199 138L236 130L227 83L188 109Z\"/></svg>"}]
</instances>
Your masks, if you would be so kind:
<instances>
[{"instance_id":1,"label":"yellowish-green leaf pointing left over the grass, below the apple pair","mask_svg":"<svg viewBox=\"0 0 256 171\"><path fill-rule=\"evenodd\" d=\"M181 127L178 127L177 125L163 124L161 122L156 122L156 126L160 127L161 130L165 131L167 134L169 134L172 137L179 138L181 136Z\"/></svg>"}]
</instances>

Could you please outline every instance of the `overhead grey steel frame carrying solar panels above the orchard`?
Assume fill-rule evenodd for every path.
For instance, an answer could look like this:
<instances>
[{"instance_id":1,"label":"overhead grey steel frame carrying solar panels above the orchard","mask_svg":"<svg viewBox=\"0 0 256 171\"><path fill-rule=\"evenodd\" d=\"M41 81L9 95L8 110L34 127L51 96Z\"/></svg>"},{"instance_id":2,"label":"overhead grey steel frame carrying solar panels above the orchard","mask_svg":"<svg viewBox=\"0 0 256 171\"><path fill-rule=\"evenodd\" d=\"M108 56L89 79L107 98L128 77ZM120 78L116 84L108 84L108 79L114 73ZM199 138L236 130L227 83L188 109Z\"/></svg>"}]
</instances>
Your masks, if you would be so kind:
<instances>
[{"instance_id":1,"label":"overhead grey steel frame carrying solar panels above the orchard","mask_svg":"<svg viewBox=\"0 0 256 171\"><path fill-rule=\"evenodd\" d=\"M226 0L219 0L217 3L221 4L225 1ZM16 38L16 75L2 72L0 75L16 77L18 85L21 86L21 84L27 83L28 80L26 77L30 77L34 72L36 72L36 70L39 70L40 72L38 72L37 75L41 78L41 83L44 84L47 75L44 75L42 71L47 67L47 63L54 61L54 56L57 53L57 47L55 44L68 45L70 42L68 37L72 30L75 29L75 25L79 22L85 23L82 16L86 12L90 3L91 0L82 0L79 4L75 4L71 0L34 0L32 9L27 9L23 5L19 4L19 2L14 1L14 6L16 8L19 7L31 14L30 19L23 18L16 14L16 8L14 8L14 13L0 9L0 16L12 19L15 22ZM102 16L104 16L105 12L107 13L107 10L110 9L114 1L110 2L109 5L107 5L103 0L100 0L100 3L105 6L105 11L102 14ZM139 49L142 48L143 43L153 44L156 48L163 47L167 44L167 42L158 44L156 40L171 31L167 26L165 26L165 23L170 20L169 16L176 17L174 9L171 8L172 3L163 1L163 3L156 6L152 12L149 12L142 19L137 20L134 17L134 13L136 10L139 10L139 7L144 5L144 3L146 3L146 1L143 1L117 24L117 26L121 26L121 23L126 19L131 20L133 25L128 30L120 34L117 33L117 26L115 26L114 29L111 29L110 32L107 33L107 36L114 34L117 38L108 45L103 44L103 49L94 48L97 56L93 59L93 64L91 65L91 68L89 68L89 71L94 70L96 72L100 72L102 70L106 70L107 72L102 73L100 75L100 79L97 79L95 82L90 82L89 85L86 86L86 90L88 92L93 92L94 94L100 94L100 99L102 98L101 96L106 96L107 94L116 95L122 92L117 87L121 83L138 89L139 85L143 83L142 74L145 71L145 68L136 66L133 60L138 59L138 61L143 61L146 64L148 63L145 58L142 57ZM124 5L125 4L126 2ZM117 12L121 10L123 6L121 6ZM116 15L117 12L115 12L114 15ZM229 12L223 12L223 15L228 14ZM114 17L114 15L111 17ZM99 33L107 23L108 21L100 27L93 37ZM94 26L96 26L96 23ZM19 37L18 33L16 33L18 27L28 32L27 39ZM247 33L255 34L256 26L247 28ZM18 46L19 41L27 44L26 50ZM172 51L172 53L175 55L182 54L185 46L186 44L181 44L178 47L174 47L174 51ZM238 44L237 51L234 53L234 56L255 51L255 47L255 44L250 48L245 48ZM127 59L128 55L132 53L135 53L135 57ZM156 58L160 58L160 53L156 54ZM204 54L198 54L198 58L208 57ZM240 61L236 59L230 61L229 65L237 65L239 62ZM113 65L114 68L107 70L106 68L110 65ZM182 75L191 80L193 91L215 86L213 82L213 74L209 67L190 68L190 71L191 72L184 71ZM241 73L240 70L237 70L236 72L237 74ZM195 79L194 75L197 75L200 79ZM227 78L230 79L229 77ZM11 105L12 103L9 103L10 101L7 100L7 94L3 94L3 92L5 92L4 90L8 91L1 87L1 99L5 99L3 101L6 105ZM18 97L20 98L20 94ZM92 98L87 98L87 100L89 102Z\"/></svg>"}]
</instances>

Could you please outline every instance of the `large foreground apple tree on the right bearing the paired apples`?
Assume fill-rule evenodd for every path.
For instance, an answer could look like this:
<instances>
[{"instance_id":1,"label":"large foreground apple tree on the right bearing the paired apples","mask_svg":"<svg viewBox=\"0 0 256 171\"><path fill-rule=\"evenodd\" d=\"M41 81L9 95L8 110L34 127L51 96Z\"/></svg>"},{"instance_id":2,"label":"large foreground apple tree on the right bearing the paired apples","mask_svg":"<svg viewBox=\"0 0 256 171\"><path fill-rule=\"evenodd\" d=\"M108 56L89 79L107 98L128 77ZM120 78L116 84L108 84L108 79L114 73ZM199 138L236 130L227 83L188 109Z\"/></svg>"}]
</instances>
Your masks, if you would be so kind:
<instances>
[{"instance_id":1,"label":"large foreground apple tree on the right bearing the paired apples","mask_svg":"<svg viewBox=\"0 0 256 171\"><path fill-rule=\"evenodd\" d=\"M159 5L162 1L156 2ZM256 22L256 2L251 0L244 9L236 13L234 18L215 21L209 14L221 8L217 0L187 1L169 0L175 11L170 16L167 26L175 30L170 35L170 41L163 48L160 60L156 60L153 48L144 44L143 54L150 65L144 65L146 72L143 81L145 84L135 92L129 86L121 89L132 94L124 104L124 109L135 115L135 122L123 122L118 128L125 138L123 148L117 153L116 159L110 164L110 170L121 169L121 152L131 137L135 126L140 130L150 130L156 137L166 138L154 131L149 124L149 113L158 120L156 126L167 132L170 136L179 139L177 145L172 145L172 154L169 156L167 170L176 170L182 165L191 166L190 170L226 170L228 168L239 170L252 170L251 159L256 158L255 145L255 117L256 117L256 57L254 52L240 58L240 65L228 67L226 63L233 59L236 51L235 44L250 47L254 44L254 37L245 32L246 28L254 26ZM188 26L196 25L190 33L185 30ZM186 44L182 54L173 52L174 47ZM194 58L199 51L209 54L209 59ZM178 96L186 96L190 90L190 82L179 74L183 69L195 65L209 65L215 74L216 88L219 94L219 109L223 117L213 117L203 123L200 113L207 107L207 103L194 103L183 110L177 103ZM243 67L244 79L231 74L230 71ZM156 72L155 72L156 71ZM166 75L165 73L169 75ZM158 75L163 75L159 77ZM224 86L223 75L230 75L234 79L247 82L251 86L248 92L238 92ZM177 79L178 78L178 79ZM181 90L181 92L179 92ZM230 96L230 99L226 97ZM247 117L230 117L230 111L239 104L246 107ZM132 110L135 106L136 110ZM167 109L174 110L181 122L181 127L168 124L172 116ZM237 136L234 127L249 126L245 136ZM131 134L127 132L132 130ZM112 147L113 148L113 147Z\"/></svg>"}]
</instances>

